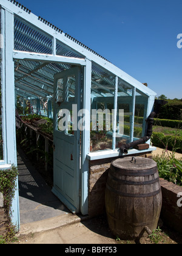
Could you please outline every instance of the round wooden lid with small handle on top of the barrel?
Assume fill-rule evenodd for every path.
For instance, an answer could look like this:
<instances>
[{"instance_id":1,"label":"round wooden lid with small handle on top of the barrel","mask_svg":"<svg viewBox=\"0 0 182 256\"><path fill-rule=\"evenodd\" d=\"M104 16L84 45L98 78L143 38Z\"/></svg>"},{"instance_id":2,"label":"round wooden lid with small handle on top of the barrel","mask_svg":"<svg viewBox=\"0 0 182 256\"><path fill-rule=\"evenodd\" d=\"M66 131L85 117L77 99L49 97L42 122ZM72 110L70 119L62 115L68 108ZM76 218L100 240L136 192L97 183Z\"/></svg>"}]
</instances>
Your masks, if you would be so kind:
<instances>
[{"instance_id":1,"label":"round wooden lid with small handle on top of the barrel","mask_svg":"<svg viewBox=\"0 0 182 256\"><path fill-rule=\"evenodd\" d=\"M125 169L128 171L152 169L157 163L149 158L144 157L124 157L113 160L111 165L117 169Z\"/></svg>"}]
</instances>

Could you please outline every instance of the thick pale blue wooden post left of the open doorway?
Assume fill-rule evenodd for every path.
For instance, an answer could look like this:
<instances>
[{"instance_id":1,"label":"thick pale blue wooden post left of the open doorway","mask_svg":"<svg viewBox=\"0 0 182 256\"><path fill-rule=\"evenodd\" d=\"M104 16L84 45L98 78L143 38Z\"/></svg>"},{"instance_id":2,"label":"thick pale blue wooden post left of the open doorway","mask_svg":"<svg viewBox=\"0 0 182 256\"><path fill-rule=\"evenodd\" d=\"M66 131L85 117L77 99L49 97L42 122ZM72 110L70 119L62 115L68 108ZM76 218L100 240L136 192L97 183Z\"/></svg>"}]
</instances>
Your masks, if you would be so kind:
<instances>
[{"instance_id":1,"label":"thick pale blue wooden post left of the open doorway","mask_svg":"<svg viewBox=\"0 0 182 256\"><path fill-rule=\"evenodd\" d=\"M15 126L15 76L13 62L14 15L1 9L1 34L3 38L1 84L3 94L2 132L4 141L4 163L17 166ZM19 229L18 177L15 197L12 201L12 222Z\"/></svg>"}]
</instances>

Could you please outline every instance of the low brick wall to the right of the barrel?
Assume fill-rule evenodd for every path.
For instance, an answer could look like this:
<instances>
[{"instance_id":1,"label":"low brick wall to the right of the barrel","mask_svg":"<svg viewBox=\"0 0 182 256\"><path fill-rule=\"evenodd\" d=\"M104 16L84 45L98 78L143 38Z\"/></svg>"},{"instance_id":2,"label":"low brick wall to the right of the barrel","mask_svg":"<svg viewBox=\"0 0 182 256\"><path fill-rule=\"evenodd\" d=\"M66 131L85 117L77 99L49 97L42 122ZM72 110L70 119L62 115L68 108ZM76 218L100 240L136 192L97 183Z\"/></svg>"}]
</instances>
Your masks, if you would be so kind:
<instances>
[{"instance_id":1,"label":"low brick wall to the right of the barrel","mask_svg":"<svg viewBox=\"0 0 182 256\"><path fill-rule=\"evenodd\" d=\"M182 193L182 187L164 179L160 179L160 183L163 194L161 219L167 226L182 233L182 206L177 205L178 202L180 205L182 204L180 197L178 197L178 193Z\"/></svg>"}]
</instances>

